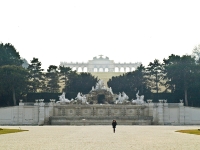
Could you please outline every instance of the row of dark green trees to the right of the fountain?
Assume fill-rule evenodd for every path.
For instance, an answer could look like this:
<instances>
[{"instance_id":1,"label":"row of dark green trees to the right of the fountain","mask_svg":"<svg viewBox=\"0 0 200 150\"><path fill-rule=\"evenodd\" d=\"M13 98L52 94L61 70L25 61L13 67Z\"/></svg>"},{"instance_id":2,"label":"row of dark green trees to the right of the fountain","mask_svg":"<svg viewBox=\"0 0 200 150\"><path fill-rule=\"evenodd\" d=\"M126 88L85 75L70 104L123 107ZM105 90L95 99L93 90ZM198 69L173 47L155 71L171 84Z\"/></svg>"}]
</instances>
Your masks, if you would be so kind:
<instances>
[{"instance_id":1,"label":"row of dark green trees to the right of the fountain","mask_svg":"<svg viewBox=\"0 0 200 150\"><path fill-rule=\"evenodd\" d=\"M133 72L112 77L108 86L113 88L113 92L139 91L142 95L149 95L154 91L154 95L157 95L157 98L154 97L156 100L162 86L165 87L163 93L178 95L176 98L183 99L186 106L194 106L194 101L200 106L199 56L200 46L194 48L193 55L171 54L167 59L163 59L163 62L155 59L147 67L140 65Z\"/></svg>"}]
</instances>

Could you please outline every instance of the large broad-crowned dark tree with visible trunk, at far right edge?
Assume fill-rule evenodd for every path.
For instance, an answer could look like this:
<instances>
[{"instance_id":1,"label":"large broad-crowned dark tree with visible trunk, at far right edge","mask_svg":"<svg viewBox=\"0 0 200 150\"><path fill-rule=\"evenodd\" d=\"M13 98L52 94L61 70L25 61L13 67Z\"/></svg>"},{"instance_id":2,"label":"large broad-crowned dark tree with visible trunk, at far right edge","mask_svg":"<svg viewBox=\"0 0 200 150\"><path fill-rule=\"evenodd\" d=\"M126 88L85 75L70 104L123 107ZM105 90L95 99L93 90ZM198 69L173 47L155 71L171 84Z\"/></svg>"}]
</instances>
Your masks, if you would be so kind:
<instances>
[{"instance_id":1,"label":"large broad-crowned dark tree with visible trunk, at far right edge","mask_svg":"<svg viewBox=\"0 0 200 150\"><path fill-rule=\"evenodd\" d=\"M197 88L200 79L200 66L190 55L171 55L164 59L166 85L172 92L183 91L185 105L188 106L188 90Z\"/></svg>"}]
</instances>

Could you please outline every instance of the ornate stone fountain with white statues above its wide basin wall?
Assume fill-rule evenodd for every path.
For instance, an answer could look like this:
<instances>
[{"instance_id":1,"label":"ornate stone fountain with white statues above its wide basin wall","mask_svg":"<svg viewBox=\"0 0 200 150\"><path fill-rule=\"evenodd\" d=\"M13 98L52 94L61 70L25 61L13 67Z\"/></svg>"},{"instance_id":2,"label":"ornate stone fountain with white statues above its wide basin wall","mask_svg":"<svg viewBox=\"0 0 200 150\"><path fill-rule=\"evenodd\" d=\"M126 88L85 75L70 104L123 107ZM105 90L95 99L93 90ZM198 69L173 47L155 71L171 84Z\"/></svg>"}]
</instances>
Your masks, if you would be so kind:
<instances>
[{"instance_id":1,"label":"ornate stone fountain with white statues above its wide basin wall","mask_svg":"<svg viewBox=\"0 0 200 150\"><path fill-rule=\"evenodd\" d=\"M108 125L113 119L124 125L149 125L153 118L152 105L144 102L144 95L139 96L139 91L135 100L129 100L125 92L113 93L102 80L88 94L78 92L71 100L63 92L52 106L51 125Z\"/></svg>"}]
</instances>

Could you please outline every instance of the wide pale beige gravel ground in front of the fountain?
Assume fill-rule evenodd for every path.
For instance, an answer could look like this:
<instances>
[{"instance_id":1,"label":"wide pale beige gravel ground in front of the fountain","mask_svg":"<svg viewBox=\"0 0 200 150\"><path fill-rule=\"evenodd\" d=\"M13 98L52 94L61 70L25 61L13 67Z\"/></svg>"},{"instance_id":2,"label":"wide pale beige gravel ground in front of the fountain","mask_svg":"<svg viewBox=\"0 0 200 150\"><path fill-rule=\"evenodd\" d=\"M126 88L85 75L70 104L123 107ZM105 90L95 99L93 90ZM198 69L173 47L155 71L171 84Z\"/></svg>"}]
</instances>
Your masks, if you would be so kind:
<instances>
[{"instance_id":1,"label":"wide pale beige gravel ground in front of the fountain","mask_svg":"<svg viewBox=\"0 0 200 150\"><path fill-rule=\"evenodd\" d=\"M0 126L29 130L0 135L1 150L199 150L198 126Z\"/></svg>"}]
</instances>

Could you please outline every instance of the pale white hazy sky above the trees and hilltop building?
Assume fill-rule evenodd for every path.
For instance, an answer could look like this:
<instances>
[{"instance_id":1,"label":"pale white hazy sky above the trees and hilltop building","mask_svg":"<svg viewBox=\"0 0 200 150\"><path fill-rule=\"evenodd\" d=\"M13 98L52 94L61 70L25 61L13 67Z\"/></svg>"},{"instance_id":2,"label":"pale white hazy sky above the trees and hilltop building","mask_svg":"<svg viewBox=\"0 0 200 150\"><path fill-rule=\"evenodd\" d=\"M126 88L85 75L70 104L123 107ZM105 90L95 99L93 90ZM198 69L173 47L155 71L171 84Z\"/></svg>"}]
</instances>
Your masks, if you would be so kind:
<instances>
[{"instance_id":1,"label":"pale white hazy sky above the trees and hilltop building","mask_svg":"<svg viewBox=\"0 0 200 150\"><path fill-rule=\"evenodd\" d=\"M199 0L0 0L0 42L46 70L100 54L142 62L191 54L200 44Z\"/></svg>"}]
</instances>

